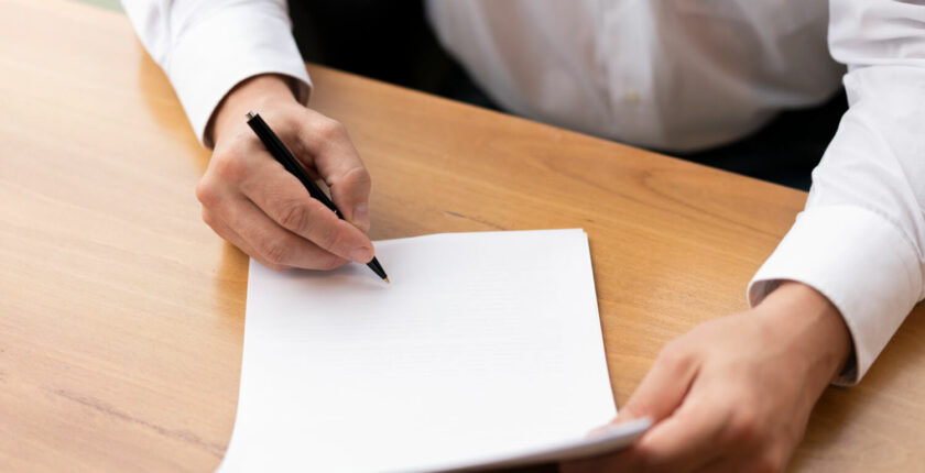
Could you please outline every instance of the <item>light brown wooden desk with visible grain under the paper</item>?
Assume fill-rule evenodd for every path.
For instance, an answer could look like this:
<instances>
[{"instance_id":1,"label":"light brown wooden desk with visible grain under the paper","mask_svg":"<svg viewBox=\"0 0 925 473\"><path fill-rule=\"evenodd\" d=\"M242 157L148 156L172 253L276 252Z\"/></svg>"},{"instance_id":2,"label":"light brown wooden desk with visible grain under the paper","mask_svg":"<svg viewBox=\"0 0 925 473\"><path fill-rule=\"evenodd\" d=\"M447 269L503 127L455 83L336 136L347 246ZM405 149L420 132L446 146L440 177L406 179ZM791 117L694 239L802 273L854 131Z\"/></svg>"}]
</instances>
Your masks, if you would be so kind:
<instances>
[{"instance_id":1,"label":"light brown wooden desk with visible grain under the paper","mask_svg":"<svg viewBox=\"0 0 925 473\"><path fill-rule=\"evenodd\" d=\"M372 237L581 227L617 402L746 308L805 194L312 67L374 179ZM197 144L128 20L0 0L0 470L205 471L235 418L247 258L200 221ZM919 307L794 471L921 470Z\"/></svg>"}]
</instances>

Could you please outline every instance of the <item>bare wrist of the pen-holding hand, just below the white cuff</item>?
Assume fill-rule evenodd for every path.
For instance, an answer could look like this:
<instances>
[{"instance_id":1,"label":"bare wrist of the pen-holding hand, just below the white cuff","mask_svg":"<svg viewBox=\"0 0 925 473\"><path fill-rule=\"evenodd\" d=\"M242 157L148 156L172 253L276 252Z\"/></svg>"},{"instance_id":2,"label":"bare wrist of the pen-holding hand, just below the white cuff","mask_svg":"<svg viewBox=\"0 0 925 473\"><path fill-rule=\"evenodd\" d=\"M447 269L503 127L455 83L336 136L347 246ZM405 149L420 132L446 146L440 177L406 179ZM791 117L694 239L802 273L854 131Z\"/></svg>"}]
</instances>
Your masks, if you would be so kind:
<instances>
[{"instance_id":1,"label":"bare wrist of the pen-holding hand, just below the white cuff","mask_svg":"<svg viewBox=\"0 0 925 473\"><path fill-rule=\"evenodd\" d=\"M244 114L271 100L296 101L289 80L278 74L247 78L232 88L216 107L206 136L217 143L222 135L243 120Z\"/></svg>"}]
</instances>

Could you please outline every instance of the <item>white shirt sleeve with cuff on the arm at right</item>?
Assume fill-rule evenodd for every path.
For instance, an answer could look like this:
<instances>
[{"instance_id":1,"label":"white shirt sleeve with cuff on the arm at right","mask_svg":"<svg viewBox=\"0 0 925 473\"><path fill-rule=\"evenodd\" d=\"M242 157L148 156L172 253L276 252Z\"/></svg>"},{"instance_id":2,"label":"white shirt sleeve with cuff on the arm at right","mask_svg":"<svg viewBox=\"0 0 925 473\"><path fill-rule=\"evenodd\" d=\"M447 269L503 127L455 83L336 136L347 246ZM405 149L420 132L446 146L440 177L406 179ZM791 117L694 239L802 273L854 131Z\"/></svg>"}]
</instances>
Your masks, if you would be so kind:
<instances>
[{"instance_id":1,"label":"white shirt sleeve with cuff on the arm at right","mask_svg":"<svg viewBox=\"0 0 925 473\"><path fill-rule=\"evenodd\" d=\"M806 209L748 294L753 306L791 279L828 297L853 341L837 381L850 385L923 298L925 4L831 0L829 15L850 107L813 172Z\"/></svg>"}]
</instances>

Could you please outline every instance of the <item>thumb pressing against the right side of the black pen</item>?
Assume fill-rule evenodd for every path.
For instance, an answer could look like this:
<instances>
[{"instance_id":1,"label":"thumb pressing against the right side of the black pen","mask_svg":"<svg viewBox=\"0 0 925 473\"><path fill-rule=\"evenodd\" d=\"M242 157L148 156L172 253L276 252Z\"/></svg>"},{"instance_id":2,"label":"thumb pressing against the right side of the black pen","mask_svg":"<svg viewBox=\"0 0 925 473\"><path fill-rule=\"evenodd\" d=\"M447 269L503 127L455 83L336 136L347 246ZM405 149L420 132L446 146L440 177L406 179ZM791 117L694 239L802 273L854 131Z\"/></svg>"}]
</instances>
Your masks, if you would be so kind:
<instances>
[{"instance_id":1,"label":"thumb pressing against the right side of the black pen","mask_svg":"<svg viewBox=\"0 0 925 473\"><path fill-rule=\"evenodd\" d=\"M344 218L368 231L372 179L347 130L337 121L313 112L306 114L306 124L300 127L298 139Z\"/></svg>"}]
</instances>

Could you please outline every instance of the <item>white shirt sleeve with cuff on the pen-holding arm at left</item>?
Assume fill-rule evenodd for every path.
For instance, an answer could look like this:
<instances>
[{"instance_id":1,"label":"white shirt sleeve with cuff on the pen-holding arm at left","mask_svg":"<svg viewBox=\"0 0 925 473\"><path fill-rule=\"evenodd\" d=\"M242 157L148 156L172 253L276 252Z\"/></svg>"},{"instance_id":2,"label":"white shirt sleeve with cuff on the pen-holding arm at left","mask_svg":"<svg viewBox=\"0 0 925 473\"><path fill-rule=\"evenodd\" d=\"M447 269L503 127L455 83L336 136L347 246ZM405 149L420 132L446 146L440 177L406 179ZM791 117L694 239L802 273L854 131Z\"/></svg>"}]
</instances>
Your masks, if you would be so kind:
<instances>
[{"instance_id":1,"label":"white shirt sleeve with cuff on the pen-holding arm at left","mask_svg":"<svg viewBox=\"0 0 925 473\"><path fill-rule=\"evenodd\" d=\"M164 69L196 136L221 99L259 74L292 79L308 101L312 82L292 36L285 0L122 0L142 44Z\"/></svg>"}]
</instances>

